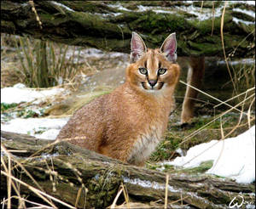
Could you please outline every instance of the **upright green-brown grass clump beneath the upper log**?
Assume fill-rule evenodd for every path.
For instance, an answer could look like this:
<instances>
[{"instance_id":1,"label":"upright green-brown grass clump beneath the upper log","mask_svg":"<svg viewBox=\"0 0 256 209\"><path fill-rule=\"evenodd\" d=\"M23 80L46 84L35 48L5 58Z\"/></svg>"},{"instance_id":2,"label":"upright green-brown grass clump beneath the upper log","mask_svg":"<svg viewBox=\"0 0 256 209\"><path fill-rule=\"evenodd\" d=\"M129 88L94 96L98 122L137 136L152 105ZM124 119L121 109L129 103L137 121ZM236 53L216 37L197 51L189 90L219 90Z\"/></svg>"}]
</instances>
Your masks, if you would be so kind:
<instances>
[{"instance_id":1,"label":"upright green-brown grass clump beneath the upper log","mask_svg":"<svg viewBox=\"0 0 256 209\"><path fill-rule=\"evenodd\" d=\"M67 59L69 48L67 45L31 40L28 37L20 37L19 42L21 49L18 50L18 54L24 80L28 87L53 87L66 83L67 80L73 80L77 74L80 50L77 54L78 59L75 61L75 48Z\"/></svg>"}]
</instances>

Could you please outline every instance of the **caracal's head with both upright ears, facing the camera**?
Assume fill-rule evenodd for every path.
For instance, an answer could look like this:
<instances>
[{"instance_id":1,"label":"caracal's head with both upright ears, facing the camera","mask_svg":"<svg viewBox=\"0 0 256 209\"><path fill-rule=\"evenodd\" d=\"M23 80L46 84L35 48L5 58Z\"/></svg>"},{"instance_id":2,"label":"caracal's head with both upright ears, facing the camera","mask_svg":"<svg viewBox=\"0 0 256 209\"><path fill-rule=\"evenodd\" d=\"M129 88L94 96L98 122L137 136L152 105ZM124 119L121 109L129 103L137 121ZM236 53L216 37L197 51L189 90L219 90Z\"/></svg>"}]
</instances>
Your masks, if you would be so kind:
<instances>
[{"instance_id":1,"label":"caracal's head with both upright ears, facing the camera","mask_svg":"<svg viewBox=\"0 0 256 209\"><path fill-rule=\"evenodd\" d=\"M161 48L146 48L137 33L131 39L131 65L126 70L127 82L140 91L162 93L177 82L176 38L172 33Z\"/></svg>"}]
</instances>

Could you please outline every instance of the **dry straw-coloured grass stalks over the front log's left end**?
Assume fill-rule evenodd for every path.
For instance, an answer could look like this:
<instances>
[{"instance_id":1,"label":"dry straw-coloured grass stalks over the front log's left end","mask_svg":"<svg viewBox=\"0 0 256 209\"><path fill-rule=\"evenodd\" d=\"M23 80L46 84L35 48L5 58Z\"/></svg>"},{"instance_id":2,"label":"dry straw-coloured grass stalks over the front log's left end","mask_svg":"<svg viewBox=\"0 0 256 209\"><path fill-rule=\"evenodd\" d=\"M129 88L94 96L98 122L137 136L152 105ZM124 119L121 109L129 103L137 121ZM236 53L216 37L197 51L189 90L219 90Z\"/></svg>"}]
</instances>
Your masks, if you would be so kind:
<instances>
[{"instance_id":1,"label":"dry straw-coloured grass stalks over the front log's left end","mask_svg":"<svg viewBox=\"0 0 256 209\"><path fill-rule=\"evenodd\" d=\"M69 141L72 139L80 139L80 138L63 138L62 141ZM24 161L16 160L15 155L12 155L11 152L26 152L26 150L7 150L5 148L5 146L3 144L1 144L1 152L3 152L3 155L1 155L1 175L4 175L7 178L7 187L8 187L7 199L4 199L3 201L1 201L1 205L3 207L6 205L7 208L12 208L13 207L12 199L17 199L19 201L18 208L33 208L33 207L27 207L26 202L29 203L30 205L34 205L35 208L58 208L57 206L55 206L54 202L57 202L58 204L61 204L62 206L66 206L67 208L76 208L75 206L71 206L70 204L67 204L64 201L61 201L60 199L55 198L52 195L48 195L44 191L44 189L38 184L38 182L32 177L30 172L27 172L26 168L23 166L26 161L31 161L34 158L41 158L41 156L37 156L39 153L41 153L43 150L46 150L58 143L60 143L60 141L54 141L51 144L45 145L44 148L33 153L31 156L27 157L26 160L24 160ZM7 165L6 165L6 161L3 159L4 155L6 155L8 158ZM88 189L85 188L85 186L82 182L82 178L81 178L82 174L76 168L74 168L70 163L65 162L65 161L61 161L61 163L64 163L67 167L69 167L73 171L77 180L81 184L81 189L84 189L85 193L87 193ZM56 178L59 178L59 179L61 179L61 176L59 173L54 171L53 166L50 168L47 165L47 167L48 167L48 170L42 169L42 172L49 174L49 178L53 182L53 189L54 189L55 184L54 184L53 176L55 176ZM35 186L27 184L26 182L20 180L19 178L16 178L13 175L15 170L16 171L19 170L20 173L25 172L27 177L32 180L32 183L35 184ZM68 182L67 179L62 179L62 180L66 181L68 184L72 184L72 183ZM26 198L24 198L24 196L20 194L20 185L25 186L27 189L31 190L32 193L34 193L39 198L41 198L42 201L45 201L46 203L48 203L49 206L43 205L38 202L26 200ZM11 193L12 190L14 190L15 194ZM77 195L77 201L79 201L79 193ZM85 203L86 203L86 201L85 201ZM85 208L85 205L84 205L84 208Z\"/></svg>"}]
</instances>

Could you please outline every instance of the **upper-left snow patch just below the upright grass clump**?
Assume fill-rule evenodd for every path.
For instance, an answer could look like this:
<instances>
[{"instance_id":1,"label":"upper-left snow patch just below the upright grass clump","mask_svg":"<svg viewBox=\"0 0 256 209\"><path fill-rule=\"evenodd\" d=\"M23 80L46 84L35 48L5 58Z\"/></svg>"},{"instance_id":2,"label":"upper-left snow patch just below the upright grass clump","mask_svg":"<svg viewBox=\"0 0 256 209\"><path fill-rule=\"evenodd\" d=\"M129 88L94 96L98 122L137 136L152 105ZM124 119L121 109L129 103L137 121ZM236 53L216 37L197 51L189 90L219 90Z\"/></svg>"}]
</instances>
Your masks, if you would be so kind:
<instances>
[{"instance_id":1,"label":"upper-left snow patch just below the upright grass clump","mask_svg":"<svg viewBox=\"0 0 256 209\"><path fill-rule=\"evenodd\" d=\"M35 88L25 88L22 83L16 84L14 87L1 88L1 102L6 104L12 104L20 102L32 102L33 104L39 104L45 97L51 97L55 94L62 93L64 88L50 88L45 90L37 90Z\"/></svg>"}]
</instances>

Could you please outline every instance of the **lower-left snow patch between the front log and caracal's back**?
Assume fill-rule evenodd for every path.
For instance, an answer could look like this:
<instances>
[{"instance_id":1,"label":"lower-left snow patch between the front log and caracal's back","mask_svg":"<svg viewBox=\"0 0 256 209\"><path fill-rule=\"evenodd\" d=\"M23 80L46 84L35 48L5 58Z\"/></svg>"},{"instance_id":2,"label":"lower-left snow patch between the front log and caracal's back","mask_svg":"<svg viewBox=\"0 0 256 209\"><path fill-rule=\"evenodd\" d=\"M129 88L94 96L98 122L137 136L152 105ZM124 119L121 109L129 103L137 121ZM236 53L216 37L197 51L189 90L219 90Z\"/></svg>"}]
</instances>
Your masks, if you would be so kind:
<instances>
[{"instance_id":1,"label":"lower-left snow patch between the front log and caracal's back","mask_svg":"<svg viewBox=\"0 0 256 209\"><path fill-rule=\"evenodd\" d=\"M55 139L69 118L15 118L1 124L1 130L26 133L37 138Z\"/></svg>"}]
</instances>

